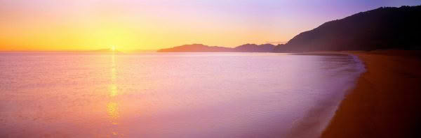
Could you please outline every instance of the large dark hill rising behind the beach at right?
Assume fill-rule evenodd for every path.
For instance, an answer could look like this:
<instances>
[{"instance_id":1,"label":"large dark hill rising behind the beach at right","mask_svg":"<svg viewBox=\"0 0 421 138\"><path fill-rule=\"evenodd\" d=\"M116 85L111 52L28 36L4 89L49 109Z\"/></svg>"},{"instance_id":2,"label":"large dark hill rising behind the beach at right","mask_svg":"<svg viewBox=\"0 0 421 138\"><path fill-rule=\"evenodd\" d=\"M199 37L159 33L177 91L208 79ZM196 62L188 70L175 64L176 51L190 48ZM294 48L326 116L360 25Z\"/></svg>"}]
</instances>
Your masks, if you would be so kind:
<instances>
[{"instance_id":1,"label":"large dark hill rising behind the beach at right","mask_svg":"<svg viewBox=\"0 0 421 138\"><path fill-rule=\"evenodd\" d=\"M321 24L274 52L421 49L421 6L377 8Z\"/></svg>"}]
</instances>

